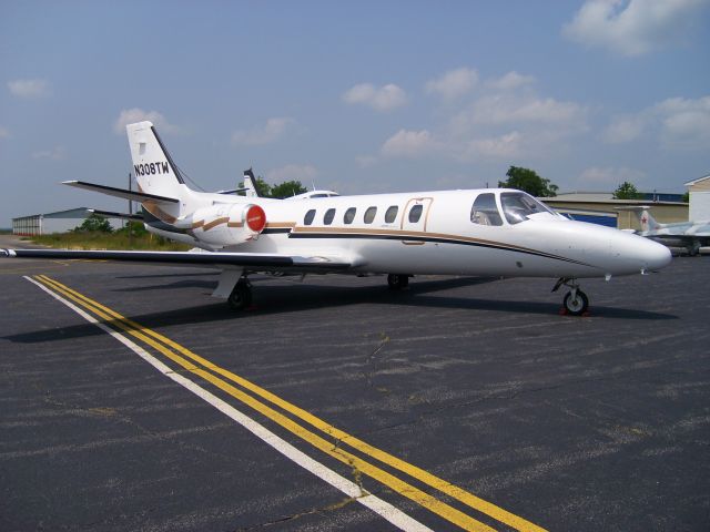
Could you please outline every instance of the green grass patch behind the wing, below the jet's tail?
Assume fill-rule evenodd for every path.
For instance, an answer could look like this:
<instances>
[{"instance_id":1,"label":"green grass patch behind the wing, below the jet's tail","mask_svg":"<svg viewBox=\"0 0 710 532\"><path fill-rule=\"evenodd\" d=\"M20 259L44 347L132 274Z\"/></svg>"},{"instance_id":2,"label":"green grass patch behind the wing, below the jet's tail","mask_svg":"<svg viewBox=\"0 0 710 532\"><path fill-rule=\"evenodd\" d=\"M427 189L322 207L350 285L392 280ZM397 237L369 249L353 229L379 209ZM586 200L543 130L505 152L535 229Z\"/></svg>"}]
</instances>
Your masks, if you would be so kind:
<instances>
[{"instance_id":1,"label":"green grass patch behind the wing, below the jet's tail","mask_svg":"<svg viewBox=\"0 0 710 532\"><path fill-rule=\"evenodd\" d=\"M60 249L144 249L154 252L186 252L191 248L187 244L180 244L150 233L134 235L132 241L125 232L58 233L53 235L31 236L23 239Z\"/></svg>"}]
</instances>

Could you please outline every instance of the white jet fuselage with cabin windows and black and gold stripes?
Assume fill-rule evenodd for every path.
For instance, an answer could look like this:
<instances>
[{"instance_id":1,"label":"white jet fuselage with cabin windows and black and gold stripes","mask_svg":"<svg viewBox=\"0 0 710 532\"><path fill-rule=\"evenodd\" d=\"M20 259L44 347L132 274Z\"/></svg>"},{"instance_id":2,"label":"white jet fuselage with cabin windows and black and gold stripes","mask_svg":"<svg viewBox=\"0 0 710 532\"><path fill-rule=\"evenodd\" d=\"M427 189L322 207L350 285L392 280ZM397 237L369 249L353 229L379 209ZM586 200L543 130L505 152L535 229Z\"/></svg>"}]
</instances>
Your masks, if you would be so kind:
<instances>
[{"instance_id":1,"label":"white jet fuselage with cabin windows and black and gold stripes","mask_svg":"<svg viewBox=\"0 0 710 532\"><path fill-rule=\"evenodd\" d=\"M545 207L525 219L508 219L503 198L515 197L519 191L437 191L298 202L187 191L185 187L183 197L191 205L175 205L174 213L146 206L153 214L146 218L149 231L210 250L341 257L352 264L351 273L582 278L638 274L668 262L667 250L645 238L572 222ZM497 211L494 223L473 219L476 198L484 194L495 202L488 202ZM239 219L230 217L230 212L239 213L247 205L263 209L263 231L237 244L219 244L230 238L217 234L240 231ZM212 217L178 219L181 208ZM205 239L210 232L217 244Z\"/></svg>"}]
</instances>

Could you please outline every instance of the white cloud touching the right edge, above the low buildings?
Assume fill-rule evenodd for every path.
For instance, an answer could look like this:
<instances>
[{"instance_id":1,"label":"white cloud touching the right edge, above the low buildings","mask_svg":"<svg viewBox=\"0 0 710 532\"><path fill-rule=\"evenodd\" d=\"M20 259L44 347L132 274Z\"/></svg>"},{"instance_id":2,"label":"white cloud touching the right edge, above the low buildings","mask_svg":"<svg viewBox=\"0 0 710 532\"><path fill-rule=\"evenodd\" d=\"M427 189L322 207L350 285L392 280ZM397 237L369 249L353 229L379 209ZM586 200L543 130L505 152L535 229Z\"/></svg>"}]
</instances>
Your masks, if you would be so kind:
<instances>
[{"instance_id":1,"label":"white cloud touching the right edge, above the low buildings","mask_svg":"<svg viewBox=\"0 0 710 532\"><path fill-rule=\"evenodd\" d=\"M649 136L669 150L707 150L710 146L710 95L697 100L663 100L637 114L613 119L604 132L604 140L612 144Z\"/></svg>"}]
</instances>

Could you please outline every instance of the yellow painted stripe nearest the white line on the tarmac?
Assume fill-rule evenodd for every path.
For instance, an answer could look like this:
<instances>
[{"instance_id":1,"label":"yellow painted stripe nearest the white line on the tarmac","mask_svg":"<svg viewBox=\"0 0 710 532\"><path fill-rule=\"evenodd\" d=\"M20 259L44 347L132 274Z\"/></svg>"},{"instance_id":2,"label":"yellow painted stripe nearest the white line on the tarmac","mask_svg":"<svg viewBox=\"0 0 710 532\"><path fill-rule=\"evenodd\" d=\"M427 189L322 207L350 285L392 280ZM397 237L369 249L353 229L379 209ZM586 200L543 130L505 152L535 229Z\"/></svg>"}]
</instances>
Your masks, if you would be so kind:
<instances>
[{"instance_id":1,"label":"yellow painted stripe nearest the white line on the tarmac","mask_svg":"<svg viewBox=\"0 0 710 532\"><path fill-rule=\"evenodd\" d=\"M205 379L206 381L216 386L221 390L239 399L243 403L250 406L257 412L266 416L272 421L278 423L284 429L296 434L304 441L311 443L313 447L321 450L322 452L335 458L336 460L347 464L351 468L354 468L361 471L364 474L367 474L368 477L377 480L378 482L396 491L400 495L406 497L407 499L416 502L423 508L426 508L430 512L444 518L445 520L456 524L457 526L460 526L464 530L469 530L475 532L495 532L495 529L491 529L487 524L475 520L470 515L467 515L464 512L439 501L438 499L398 479L397 477L384 471L383 469L377 468L376 466L373 466L372 463L361 459L359 457L356 457L355 454L352 454L336 447L333 442L327 441L321 438L320 436L311 432L310 430L300 426L292 419L277 412L273 408L264 405L263 402L258 401L252 396L235 388L229 382L215 377L214 375L205 371L204 369L196 367L194 364L191 364L189 360L185 360L180 355L176 355L175 352L171 351L162 344L159 344L158 341L155 341L153 338L148 337L144 334L144 331L149 331L150 329L146 329L145 327L134 324L131 320L128 320L126 318L119 317L120 315L118 315L118 313L114 313L108 307L104 307L103 305L97 301L93 301L92 299L77 293L75 290L72 290L69 287L65 287L61 283L58 283L44 275L34 276L34 278L41 282L42 284L44 284L47 287L61 293L65 297L72 299L74 303L94 313L95 315L101 317L106 324L113 325L124 330L125 332L130 334L131 336L140 339L141 341L148 344L149 346L153 347L154 349L156 349L158 351L162 352L164 356L173 360L175 364L180 365L185 370ZM133 327L133 325L129 325L129 323L134 324L135 326L139 327L139 329L136 330ZM155 335L158 334L155 332ZM214 367L214 365L212 366Z\"/></svg>"}]
</instances>

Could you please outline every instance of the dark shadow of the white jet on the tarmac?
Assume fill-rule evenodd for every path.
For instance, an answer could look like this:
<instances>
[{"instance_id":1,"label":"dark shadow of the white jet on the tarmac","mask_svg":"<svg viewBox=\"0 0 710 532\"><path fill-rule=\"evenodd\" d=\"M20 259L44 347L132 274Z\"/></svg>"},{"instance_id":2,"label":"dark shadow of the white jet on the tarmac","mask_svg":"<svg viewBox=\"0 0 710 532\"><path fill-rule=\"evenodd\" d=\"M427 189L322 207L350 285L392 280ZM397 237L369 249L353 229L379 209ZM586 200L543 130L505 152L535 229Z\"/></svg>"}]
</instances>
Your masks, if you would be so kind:
<instances>
[{"instance_id":1,"label":"dark shadow of the white jet on the tarmac","mask_svg":"<svg viewBox=\"0 0 710 532\"><path fill-rule=\"evenodd\" d=\"M409 289L392 291L382 285L377 286L318 286L318 285L262 285L255 290L258 306L241 313L232 311L223 301L196 305L172 310L146 313L126 316L131 320L150 329L176 325L195 325L201 323L226 321L250 317L278 316L285 313L303 311L323 307L338 307L358 304L369 305L397 305L409 307L453 308L464 310L493 310L500 313L536 314L556 316L560 306L555 303L538 303L530 300L501 300L484 299L476 297L436 296L427 295L432 291L454 289L464 286L493 283L498 278L454 278L446 280L425 280L412 283ZM185 282L191 283L191 282ZM204 283L212 288L214 283ZM162 288L178 288L185 286L183 283L161 285ZM196 285L203 286L203 282ZM145 287L143 287L145 289ZM158 287L155 287L158 289ZM132 290L132 289L131 289ZM119 289L116 291L128 291ZM205 299L209 296L205 295ZM604 319L635 319L635 320L668 320L678 319L677 316L638 309L625 309L617 307L592 307L592 317ZM580 319L580 318L568 318ZM585 319L585 318L581 318ZM104 321L112 325L114 320ZM113 326L113 328L118 328ZM88 336L103 335L98 327L91 324L60 327L51 330L38 330L19 335L2 337L4 340L21 344L34 344L44 341L69 340Z\"/></svg>"}]
</instances>

